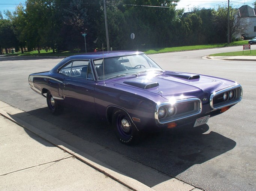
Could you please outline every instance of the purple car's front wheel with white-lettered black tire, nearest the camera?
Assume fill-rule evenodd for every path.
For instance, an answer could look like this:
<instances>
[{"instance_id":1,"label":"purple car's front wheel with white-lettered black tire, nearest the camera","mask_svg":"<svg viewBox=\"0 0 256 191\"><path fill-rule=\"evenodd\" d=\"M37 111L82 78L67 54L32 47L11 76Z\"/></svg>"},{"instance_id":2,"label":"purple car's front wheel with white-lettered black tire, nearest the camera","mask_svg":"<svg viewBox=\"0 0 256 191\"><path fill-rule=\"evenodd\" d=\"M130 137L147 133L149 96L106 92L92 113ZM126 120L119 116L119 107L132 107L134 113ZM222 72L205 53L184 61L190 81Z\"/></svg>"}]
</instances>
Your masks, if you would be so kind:
<instances>
[{"instance_id":1,"label":"purple car's front wheel with white-lettered black tire, nearest the camera","mask_svg":"<svg viewBox=\"0 0 256 191\"><path fill-rule=\"evenodd\" d=\"M126 145L133 145L139 141L139 131L126 112L116 109L112 115L112 125L118 140Z\"/></svg>"}]
</instances>

